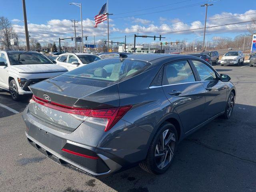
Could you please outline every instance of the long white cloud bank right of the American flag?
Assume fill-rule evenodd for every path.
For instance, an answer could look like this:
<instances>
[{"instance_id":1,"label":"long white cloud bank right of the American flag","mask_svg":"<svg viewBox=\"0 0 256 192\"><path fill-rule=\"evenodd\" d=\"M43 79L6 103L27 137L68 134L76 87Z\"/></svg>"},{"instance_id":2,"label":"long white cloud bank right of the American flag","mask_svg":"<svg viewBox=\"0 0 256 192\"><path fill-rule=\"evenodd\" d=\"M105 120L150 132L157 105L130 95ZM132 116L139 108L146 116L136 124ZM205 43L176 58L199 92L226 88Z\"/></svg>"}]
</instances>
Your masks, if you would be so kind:
<instances>
[{"instance_id":1,"label":"long white cloud bank right of the American flag","mask_svg":"<svg viewBox=\"0 0 256 192\"><path fill-rule=\"evenodd\" d=\"M228 17L228 18L226 18ZM223 18L223 19L220 19ZM243 14L233 14L228 12L222 12L221 14L215 14L214 16L208 17L208 21L206 26L218 26L218 25L224 25L224 24L230 24L230 23L236 23L236 22L245 22L254 20L256 18L256 10L248 10L244 12ZM166 21L168 19L166 18L159 18L161 25L154 25L150 24L149 26L144 25L132 25L130 28L125 28L121 30L124 33L136 33L137 30L140 31L142 34L159 34L159 33L170 33L175 32L179 34L191 34L192 31L184 31L184 32L176 32L176 31L182 31L182 30L193 30L196 28L204 28L204 21L194 21L191 23L183 23L180 19L174 18L170 20L172 24L167 24ZM184 21L186 22L186 21ZM246 24L250 25L250 23L241 23L241 24L233 24L233 25L227 25L227 26L220 26L220 27L214 27L214 28L208 28L206 29L208 34L213 33L224 33L224 32L246 32ZM203 34L204 30L194 30L196 34Z\"/></svg>"}]
</instances>

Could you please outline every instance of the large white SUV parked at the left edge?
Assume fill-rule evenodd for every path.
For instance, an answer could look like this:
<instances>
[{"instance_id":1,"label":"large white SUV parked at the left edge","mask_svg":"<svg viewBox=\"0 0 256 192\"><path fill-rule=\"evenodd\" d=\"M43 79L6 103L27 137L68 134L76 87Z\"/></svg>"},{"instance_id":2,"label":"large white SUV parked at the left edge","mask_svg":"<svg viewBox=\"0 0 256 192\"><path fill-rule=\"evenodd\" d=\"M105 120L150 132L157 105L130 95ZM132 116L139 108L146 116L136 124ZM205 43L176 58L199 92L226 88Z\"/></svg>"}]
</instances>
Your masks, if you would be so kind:
<instances>
[{"instance_id":1,"label":"large white SUV parked at the left edge","mask_svg":"<svg viewBox=\"0 0 256 192\"><path fill-rule=\"evenodd\" d=\"M28 86L67 71L36 51L0 51L0 88L16 101L32 94Z\"/></svg>"}]
</instances>

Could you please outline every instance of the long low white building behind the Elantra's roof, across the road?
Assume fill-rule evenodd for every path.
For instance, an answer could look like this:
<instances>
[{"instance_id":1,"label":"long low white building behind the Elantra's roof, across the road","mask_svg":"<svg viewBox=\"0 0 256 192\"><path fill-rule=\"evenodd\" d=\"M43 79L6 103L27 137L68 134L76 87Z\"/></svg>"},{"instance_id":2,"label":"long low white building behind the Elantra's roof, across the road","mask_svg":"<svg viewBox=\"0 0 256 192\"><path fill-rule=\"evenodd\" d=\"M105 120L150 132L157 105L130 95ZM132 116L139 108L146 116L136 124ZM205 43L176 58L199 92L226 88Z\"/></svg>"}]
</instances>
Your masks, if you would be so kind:
<instances>
[{"instance_id":1,"label":"long low white building behind the Elantra's roof, across the road","mask_svg":"<svg viewBox=\"0 0 256 192\"><path fill-rule=\"evenodd\" d=\"M134 46L126 46L126 52L132 53ZM137 53L160 53L161 46L160 45L136 45L135 52ZM170 46L162 46L162 52L170 53L170 52L181 52L182 48L180 47L170 47ZM125 52L124 46L119 46L118 52Z\"/></svg>"}]
</instances>

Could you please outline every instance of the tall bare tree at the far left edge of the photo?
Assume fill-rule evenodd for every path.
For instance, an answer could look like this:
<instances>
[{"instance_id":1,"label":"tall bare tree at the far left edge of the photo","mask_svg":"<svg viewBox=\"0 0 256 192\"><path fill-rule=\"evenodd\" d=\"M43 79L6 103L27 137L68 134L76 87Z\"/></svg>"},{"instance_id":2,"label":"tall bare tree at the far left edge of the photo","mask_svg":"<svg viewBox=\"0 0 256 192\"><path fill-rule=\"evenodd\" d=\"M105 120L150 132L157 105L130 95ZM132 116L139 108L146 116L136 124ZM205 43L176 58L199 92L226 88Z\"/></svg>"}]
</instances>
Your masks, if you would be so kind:
<instances>
[{"instance_id":1,"label":"tall bare tree at the far left edge of the photo","mask_svg":"<svg viewBox=\"0 0 256 192\"><path fill-rule=\"evenodd\" d=\"M10 21L6 17L0 17L0 42L7 48L10 49Z\"/></svg>"}]
</instances>

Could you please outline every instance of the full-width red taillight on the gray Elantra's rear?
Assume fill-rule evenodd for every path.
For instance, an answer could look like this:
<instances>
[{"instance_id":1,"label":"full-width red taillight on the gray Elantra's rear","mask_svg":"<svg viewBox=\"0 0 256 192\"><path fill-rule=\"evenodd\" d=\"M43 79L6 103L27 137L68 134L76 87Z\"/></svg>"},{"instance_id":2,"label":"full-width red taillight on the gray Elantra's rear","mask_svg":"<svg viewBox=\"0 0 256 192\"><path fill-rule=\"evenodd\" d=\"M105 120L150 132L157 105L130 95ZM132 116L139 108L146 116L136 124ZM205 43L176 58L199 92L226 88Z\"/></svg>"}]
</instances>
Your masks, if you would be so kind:
<instances>
[{"instance_id":1,"label":"full-width red taillight on the gray Elantra's rear","mask_svg":"<svg viewBox=\"0 0 256 192\"><path fill-rule=\"evenodd\" d=\"M126 114L126 112L132 108L132 105L128 105L117 108L91 110L64 106L55 102L48 103L47 100L34 95L32 96L32 100L48 108L69 113L72 116L75 116L76 118L86 122L105 126L105 132L110 130L124 116L124 114Z\"/></svg>"}]
</instances>

